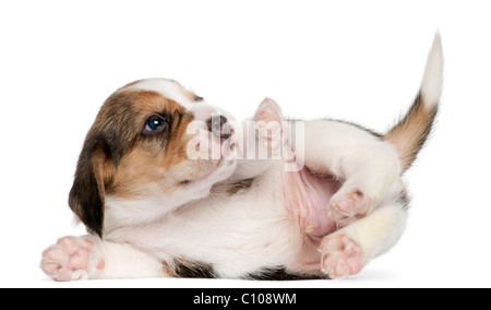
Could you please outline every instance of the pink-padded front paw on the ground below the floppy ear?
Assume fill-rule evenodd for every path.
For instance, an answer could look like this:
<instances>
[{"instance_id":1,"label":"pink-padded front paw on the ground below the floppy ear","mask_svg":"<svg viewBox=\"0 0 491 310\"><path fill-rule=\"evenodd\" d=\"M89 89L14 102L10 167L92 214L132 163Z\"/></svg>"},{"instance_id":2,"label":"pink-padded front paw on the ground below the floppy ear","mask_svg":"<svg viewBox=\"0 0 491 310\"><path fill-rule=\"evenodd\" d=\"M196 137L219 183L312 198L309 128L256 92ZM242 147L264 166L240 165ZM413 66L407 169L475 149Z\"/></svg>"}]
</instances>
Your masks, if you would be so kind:
<instances>
[{"instance_id":1,"label":"pink-padded front paw on the ground below the floppy ear","mask_svg":"<svg viewBox=\"0 0 491 310\"><path fill-rule=\"evenodd\" d=\"M59 282L87 279L103 270L105 262L96 255L93 237L64 237L43 252L41 270Z\"/></svg>"}]
</instances>

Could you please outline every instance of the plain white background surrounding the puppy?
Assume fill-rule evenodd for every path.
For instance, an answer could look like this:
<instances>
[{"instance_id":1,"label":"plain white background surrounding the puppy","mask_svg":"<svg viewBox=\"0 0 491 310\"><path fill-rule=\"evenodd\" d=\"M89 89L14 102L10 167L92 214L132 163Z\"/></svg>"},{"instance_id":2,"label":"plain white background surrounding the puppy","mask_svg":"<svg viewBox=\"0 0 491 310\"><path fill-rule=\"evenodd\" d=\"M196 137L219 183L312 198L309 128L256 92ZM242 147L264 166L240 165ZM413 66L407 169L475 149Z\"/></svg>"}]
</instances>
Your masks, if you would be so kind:
<instances>
[{"instance_id":1,"label":"plain white background surrounding the puppy","mask_svg":"<svg viewBox=\"0 0 491 310\"><path fill-rule=\"evenodd\" d=\"M1 1L0 286L491 286L489 1ZM347 281L142 279L58 284L38 269L81 235L68 192L105 98L171 78L238 118L265 97L297 118L384 131L411 103L443 37L438 126L407 174L407 231Z\"/></svg>"}]
</instances>

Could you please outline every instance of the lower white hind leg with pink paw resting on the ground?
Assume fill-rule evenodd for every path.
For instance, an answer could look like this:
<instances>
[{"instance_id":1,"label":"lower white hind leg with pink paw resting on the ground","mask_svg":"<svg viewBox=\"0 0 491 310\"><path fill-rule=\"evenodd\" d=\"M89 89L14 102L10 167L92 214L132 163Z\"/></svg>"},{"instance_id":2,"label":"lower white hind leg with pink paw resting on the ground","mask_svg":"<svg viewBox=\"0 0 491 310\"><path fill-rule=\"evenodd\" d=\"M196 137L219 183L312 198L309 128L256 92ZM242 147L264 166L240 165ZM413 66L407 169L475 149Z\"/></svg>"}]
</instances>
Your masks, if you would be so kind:
<instances>
[{"instance_id":1,"label":"lower white hind leg with pink paw resting on the ground","mask_svg":"<svg viewBox=\"0 0 491 310\"><path fill-rule=\"evenodd\" d=\"M386 204L325 237L319 248L322 271L331 278L358 274L371 259L397 242L405 223L406 211L402 205Z\"/></svg>"}]
</instances>

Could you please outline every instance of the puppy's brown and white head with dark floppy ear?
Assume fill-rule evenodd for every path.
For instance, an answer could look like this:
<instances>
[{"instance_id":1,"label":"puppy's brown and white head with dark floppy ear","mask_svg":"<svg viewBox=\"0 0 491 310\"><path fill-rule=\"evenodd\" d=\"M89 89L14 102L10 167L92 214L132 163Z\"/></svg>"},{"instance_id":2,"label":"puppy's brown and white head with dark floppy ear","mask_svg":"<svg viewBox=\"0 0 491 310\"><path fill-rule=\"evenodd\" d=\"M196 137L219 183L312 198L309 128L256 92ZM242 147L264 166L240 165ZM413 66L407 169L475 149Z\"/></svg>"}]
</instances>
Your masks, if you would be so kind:
<instances>
[{"instance_id":1,"label":"puppy's brown and white head with dark floppy ear","mask_svg":"<svg viewBox=\"0 0 491 310\"><path fill-rule=\"evenodd\" d=\"M183 188L192 193L193 182L211 175L221 158L190 158L190 145L206 141L221 146L230 136L217 130L230 116L217 114L170 80L143 80L118 90L87 133L70 207L91 233L101 236L107 195L137 200ZM196 128L190 131L191 126ZM190 144L200 135L205 139Z\"/></svg>"}]
</instances>

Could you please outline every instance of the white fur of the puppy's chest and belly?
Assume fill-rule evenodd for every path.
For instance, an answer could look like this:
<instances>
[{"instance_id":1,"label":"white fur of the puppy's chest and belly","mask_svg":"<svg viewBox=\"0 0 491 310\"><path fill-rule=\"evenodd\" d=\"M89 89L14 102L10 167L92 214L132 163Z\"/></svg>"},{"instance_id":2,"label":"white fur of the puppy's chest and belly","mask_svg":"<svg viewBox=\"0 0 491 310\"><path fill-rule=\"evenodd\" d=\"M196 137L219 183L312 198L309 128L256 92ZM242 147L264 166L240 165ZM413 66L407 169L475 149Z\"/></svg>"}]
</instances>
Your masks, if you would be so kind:
<instances>
[{"instance_id":1,"label":"white fur of the puppy's chest and belly","mask_svg":"<svg viewBox=\"0 0 491 310\"><path fill-rule=\"evenodd\" d=\"M122 227L106 235L151 251L161 261L173 258L213 264L220 277L241 277L264 266L295 259L299 236L272 184L264 176L247 195L217 196L190 203L165 218L140 227Z\"/></svg>"}]
</instances>

